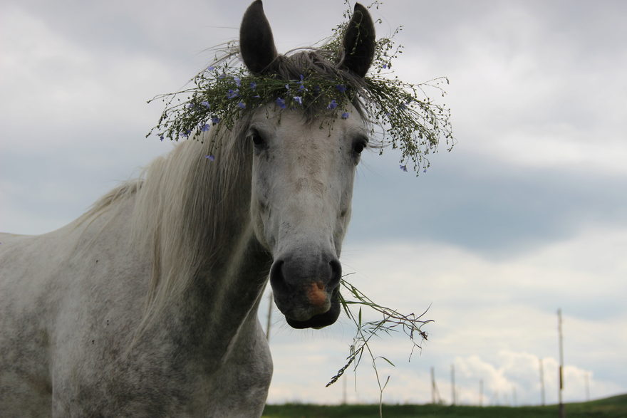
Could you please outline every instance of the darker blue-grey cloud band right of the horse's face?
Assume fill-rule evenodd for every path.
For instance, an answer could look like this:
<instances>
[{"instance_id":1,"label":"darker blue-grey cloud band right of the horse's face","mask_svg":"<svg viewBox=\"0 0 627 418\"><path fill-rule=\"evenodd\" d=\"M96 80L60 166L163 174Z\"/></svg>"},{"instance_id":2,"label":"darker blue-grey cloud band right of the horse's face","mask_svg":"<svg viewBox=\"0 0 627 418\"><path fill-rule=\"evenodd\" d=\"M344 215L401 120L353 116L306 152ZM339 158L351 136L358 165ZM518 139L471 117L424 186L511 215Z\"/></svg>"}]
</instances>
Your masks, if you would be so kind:
<instances>
[{"instance_id":1,"label":"darker blue-grey cloud band right of the horse's face","mask_svg":"<svg viewBox=\"0 0 627 418\"><path fill-rule=\"evenodd\" d=\"M396 170L391 157L380 175L363 173L350 239L432 240L507 258L591 224L627 225L627 195L617 193L627 177L524 169L455 152L439 155L418 179Z\"/></svg>"}]
</instances>

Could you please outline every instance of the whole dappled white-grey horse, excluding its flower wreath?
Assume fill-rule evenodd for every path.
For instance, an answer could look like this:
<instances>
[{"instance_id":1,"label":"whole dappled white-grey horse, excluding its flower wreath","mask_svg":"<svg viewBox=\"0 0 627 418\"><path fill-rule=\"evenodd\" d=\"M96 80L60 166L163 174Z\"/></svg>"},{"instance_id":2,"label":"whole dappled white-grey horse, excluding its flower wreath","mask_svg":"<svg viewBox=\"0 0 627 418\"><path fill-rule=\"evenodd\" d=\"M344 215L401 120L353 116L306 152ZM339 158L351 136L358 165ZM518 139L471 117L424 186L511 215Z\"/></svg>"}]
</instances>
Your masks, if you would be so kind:
<instances>
[{"instance_id":1,"label":"whole dappled white-grey horse, excluding its flower wreath","mask_svg":"<svg viewBox=\"0 0 627 418\"><path fill-rule=\"evenodd\" d=\"M279 56L261 1L244 14L252 73L363 78L374 28L361 5L343 48L337 63L315 51ZM251 110L232 130L177 145L61 229L1 234L2 417L261 415L272 362L259 298L269 277L292 327L336 321L338 257L368 141L361 117L320 129L304 110L279 112Z\"/></svg>"}]
</instances>

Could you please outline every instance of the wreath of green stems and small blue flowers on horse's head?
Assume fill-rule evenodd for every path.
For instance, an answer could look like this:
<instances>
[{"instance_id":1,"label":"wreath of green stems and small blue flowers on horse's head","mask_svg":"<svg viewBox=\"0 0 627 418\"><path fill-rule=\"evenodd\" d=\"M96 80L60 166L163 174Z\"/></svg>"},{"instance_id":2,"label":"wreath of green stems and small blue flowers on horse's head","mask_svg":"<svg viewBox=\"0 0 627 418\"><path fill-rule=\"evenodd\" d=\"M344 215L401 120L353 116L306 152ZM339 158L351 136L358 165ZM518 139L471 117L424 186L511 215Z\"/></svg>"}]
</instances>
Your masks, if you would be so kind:
<instances>
[{"instance_id":1,"label":"wreath of green stems and small blue flowers on horse's head","mask_svg":"<svg viewBox=\"0 0 627 418\"><path fill-rule=\"evenodd\" d=\"M346 1L348 3L348 1ZM378 6L378 2L375 1ZM350 9L345 17L351 15ZM317 54L332 62L341 56L343 38L349 21L333 29L333 35L321 42L318 48L298 53ZM393 76L393 60L402 53L393 37L380 38L375 43L370 73L351 76L342 70L321 73L307 68L302 73L291 71L291 77L279 73L254 73L239 59L237 42L220 48L212 65L204 68L194 78L194 86L176 93L158 95L165 103L157 125L146 136L155 133L160 140L198 138L213 125L230 129L242 113L274 103L277 109L302 109L309 114L325 113L346 119L354 117L348 112L352 103L361 117L371 122L373 133L380 135L380 151L385 145L400 149L400 169L407 171L409 163L418 175L430 167L427 155L437 151L440 137L444 137L447 150L455 145L450 124L450 110L434 103L425 88L435 88L442 96L447 78L435 78L426 83L405 83ZM296 53L294 53L296 56ZM290 56L280 58L289 60ZM183 98L182 98L183 96ZM375 129L378 127L379 129ZM375 132L377 131L377 132ZM212 145L213 146L213 145Z\"/></svg>"}]
</instances>

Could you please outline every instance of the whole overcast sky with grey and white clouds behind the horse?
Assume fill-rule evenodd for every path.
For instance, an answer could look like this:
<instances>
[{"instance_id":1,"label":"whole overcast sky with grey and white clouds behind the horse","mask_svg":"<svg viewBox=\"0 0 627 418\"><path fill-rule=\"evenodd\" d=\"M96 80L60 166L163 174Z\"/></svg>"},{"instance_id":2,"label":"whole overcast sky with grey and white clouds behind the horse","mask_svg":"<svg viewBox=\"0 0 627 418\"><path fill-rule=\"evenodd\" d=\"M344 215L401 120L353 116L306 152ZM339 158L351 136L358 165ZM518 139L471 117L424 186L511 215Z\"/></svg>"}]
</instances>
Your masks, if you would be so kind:
<instances>
[{"instance_id":1,"label":"whole overcast sky with grey and white clouds behind the horse","mask_svg":"<svg viewBox=\"0 0 627 418\"><path fill-rule=\"evenodd\" d=\"M248 1L0 3L0 231L42 234L172 145L145 138L161 108L237 36ZM266 0L279 51L328 36L340 0ZM378 33L404 29L398 74L450 79L458 144L416 178L398 155L358 168L344 271L375 301L435 322L408 362L401 335L376 355L386 402L557 399L564 317L567 401L627 392L627 4L385 1ZM261 307L265 323L266 306ZM337 403L324 385L352 342L348 318L297 331L275 311L269 402ZM375 402L367 361L349 402Z\"/></svg>"}]
</instances>

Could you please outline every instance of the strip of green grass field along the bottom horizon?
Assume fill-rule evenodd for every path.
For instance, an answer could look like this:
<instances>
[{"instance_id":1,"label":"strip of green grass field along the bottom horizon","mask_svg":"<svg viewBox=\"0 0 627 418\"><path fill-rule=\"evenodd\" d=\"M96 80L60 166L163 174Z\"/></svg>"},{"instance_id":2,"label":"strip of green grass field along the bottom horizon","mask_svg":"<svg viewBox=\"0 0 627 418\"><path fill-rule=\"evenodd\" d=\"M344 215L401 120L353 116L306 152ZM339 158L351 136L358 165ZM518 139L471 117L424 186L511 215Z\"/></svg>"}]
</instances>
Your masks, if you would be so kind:
<instances>
[{"instance_id":1,"label":"strip of green grass field along the bottom horizon","mask_svg":"<svg viewBox=\"0 0 627 418\"><path fill-rule=\"evenodd\" d=\"M546 407L467 407L443 405L383 405L383 417L388 418L527 418L557 417L557 405ZM312 404L266 405L264 418L376 418L378 405L324 406ZM566 404L567 418L627 417L627 395L591 402Z\"/></svg>"}]
</instances>

